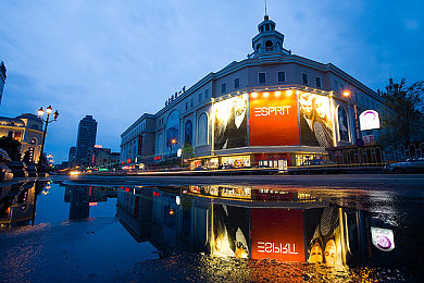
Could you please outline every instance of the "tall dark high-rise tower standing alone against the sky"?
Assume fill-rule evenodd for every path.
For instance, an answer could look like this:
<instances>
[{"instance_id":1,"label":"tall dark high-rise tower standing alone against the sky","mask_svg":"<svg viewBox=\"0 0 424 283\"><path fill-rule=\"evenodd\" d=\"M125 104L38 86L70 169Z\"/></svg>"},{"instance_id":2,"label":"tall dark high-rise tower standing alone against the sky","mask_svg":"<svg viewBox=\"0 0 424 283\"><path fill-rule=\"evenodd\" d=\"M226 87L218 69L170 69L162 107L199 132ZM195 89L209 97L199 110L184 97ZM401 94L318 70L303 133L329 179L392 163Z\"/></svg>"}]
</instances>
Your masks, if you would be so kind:
<instances>
[{"instance_id":1,"label":"tall dark high-rise tower standing alone against the sky","mask_svg":"<svg viewBox=\"0 0 424 283\"><path fill-rule=\"evenodd\" d=\"M88 150L96 145L97 122L92 115L86 115L79 121L76 140L76 163L88 164Z\"/></svg>"}]
</instances>

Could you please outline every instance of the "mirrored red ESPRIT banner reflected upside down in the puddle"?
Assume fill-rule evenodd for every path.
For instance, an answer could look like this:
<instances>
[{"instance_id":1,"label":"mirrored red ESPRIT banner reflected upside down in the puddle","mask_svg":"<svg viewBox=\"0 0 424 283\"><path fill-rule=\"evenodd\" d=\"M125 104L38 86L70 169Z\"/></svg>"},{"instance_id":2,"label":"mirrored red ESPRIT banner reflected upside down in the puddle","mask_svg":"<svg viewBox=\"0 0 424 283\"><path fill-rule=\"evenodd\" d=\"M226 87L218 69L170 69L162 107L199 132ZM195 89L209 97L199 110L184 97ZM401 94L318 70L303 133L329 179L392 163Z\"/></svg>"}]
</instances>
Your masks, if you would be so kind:
<instances>
[{"instance_id":1,"label":"mirrored red ESPRIT banner reflected upside down in the puddle","mask_svg":"<svg viewBox=\"0 0 424 283\"><path fill-rule=\"evenodd\" d=\"M304 261L303 210L251 209L251 258Z\"/></svg>"}]
</instances>

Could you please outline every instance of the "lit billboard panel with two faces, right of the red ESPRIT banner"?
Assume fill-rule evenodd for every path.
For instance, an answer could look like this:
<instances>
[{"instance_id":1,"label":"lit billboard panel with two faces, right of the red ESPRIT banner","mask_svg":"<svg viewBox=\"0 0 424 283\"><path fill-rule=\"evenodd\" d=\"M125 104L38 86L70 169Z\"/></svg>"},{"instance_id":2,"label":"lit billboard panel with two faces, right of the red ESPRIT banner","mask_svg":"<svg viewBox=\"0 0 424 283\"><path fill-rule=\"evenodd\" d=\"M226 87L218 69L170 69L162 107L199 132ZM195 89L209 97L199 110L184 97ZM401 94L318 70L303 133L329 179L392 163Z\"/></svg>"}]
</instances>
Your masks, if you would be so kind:
<instances>
[{"instance_id":1,"label":"lit billboard panel with two faces, right of the red ESPRIT banner","mask_svg":"<svg viewBox=\"0 0 424 283\"><path fill-rule=\"evenodd\" d=\"M329 98L311 93L300 93L298 100L301 145L333 146Z\"/></svg>"}]
</instances>

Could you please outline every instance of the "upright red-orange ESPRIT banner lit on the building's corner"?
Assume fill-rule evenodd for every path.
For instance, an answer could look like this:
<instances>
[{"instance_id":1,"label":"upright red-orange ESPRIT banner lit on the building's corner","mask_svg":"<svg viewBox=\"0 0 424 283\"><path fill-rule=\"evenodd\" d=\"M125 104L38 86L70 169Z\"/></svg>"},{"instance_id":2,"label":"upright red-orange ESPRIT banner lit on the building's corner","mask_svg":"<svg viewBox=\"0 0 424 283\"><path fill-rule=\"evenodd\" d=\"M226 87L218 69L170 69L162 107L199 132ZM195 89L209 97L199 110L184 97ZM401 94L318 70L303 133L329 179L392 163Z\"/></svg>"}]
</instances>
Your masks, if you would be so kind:
<instances>
[{"instance_id":1,"label":"upright red-orange ESPRIT banner lit on the building's corner","mask_svg":"<svg viewBox=\"0 0 424 283\"><path fill-rule=\"evenodd\" d=\"M249 94L250 146L299 145L296 93Z\"/></svg>"}]
</instances>

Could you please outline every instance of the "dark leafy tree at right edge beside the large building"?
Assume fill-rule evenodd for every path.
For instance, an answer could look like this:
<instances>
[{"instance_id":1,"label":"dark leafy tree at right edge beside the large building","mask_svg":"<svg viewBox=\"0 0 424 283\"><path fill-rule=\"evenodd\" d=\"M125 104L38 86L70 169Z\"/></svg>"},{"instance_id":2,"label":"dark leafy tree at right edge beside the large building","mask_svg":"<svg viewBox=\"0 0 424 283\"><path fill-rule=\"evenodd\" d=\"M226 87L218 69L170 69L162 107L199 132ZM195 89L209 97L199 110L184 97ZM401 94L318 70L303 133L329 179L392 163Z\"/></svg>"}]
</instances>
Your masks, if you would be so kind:
<instances>
[{"instance_id":1,"label":"dark leafy tree at right edge beside the large building","mask_svg":"<svg viewBox=\"0 0 424 283\"><path fill-rule=\"evenodd\" d=\"M382 96L389 103L389 114L383 120L385 130L379 138L383 145L409 145L424 142L424 81L406 87L406 79L400 84L390 84Z\"/></svg>"}]
</instances>

